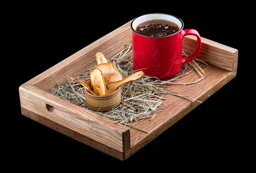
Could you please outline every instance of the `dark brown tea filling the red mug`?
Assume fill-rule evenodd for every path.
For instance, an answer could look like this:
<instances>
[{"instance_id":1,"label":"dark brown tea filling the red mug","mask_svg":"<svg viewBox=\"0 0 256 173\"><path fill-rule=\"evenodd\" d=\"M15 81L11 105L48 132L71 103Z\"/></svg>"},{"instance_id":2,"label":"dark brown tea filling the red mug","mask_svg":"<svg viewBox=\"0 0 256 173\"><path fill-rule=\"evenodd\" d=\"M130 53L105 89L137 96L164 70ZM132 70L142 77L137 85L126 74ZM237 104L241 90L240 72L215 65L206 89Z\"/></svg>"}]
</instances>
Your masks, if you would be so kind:
<instances>
[{"instance_id":1,"label":"dark brown tea filling the red mug","mask_svg":"<svg viewBox=\"0 0 256 173\"><path fill-rule=\"evenodd\" d=\"M149 37L164 37L179 31L179 26L169 20L154 19L138 25L136 31Z\"/></svg>"}]
</instances>

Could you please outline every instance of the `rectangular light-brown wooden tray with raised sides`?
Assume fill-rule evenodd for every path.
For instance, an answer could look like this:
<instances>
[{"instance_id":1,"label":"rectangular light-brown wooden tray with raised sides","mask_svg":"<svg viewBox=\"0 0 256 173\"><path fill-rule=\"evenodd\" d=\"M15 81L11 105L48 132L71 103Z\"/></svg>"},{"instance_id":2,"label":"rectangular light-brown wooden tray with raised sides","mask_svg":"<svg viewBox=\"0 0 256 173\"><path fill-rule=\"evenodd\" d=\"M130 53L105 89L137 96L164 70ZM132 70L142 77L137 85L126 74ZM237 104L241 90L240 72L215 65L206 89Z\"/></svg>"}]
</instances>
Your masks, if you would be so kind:
<instances>
[{"instance_id":1,"label":"rectangular light-brown wooden tray with raised sides","mask_svg":"<svg viewBox=\"0 0 256 173\"><path fill-rule=\"evenodd\" d=\"M236 76L238 50L202 38L198 58L209 63L208 66L200 66L205 71L204 79L195 84L175 87L179 94L189 95L195 100L166 95L164 102L168 105L156 113L153 120L132 122L133 126L148 133L129 129L47 92L56 84L63 83L67 76L75 78L90 67L92 62L96 62L97 51L112 57L124 49L132 41L130 23L127 22L22 84L19 87L22 115L119 160L126 160L197 107L200 102L195 100L203 102ZM186 51L191 52L195 47L195 38L186 36L183 43ZM184 80L186 78L196 79L198 75L192 72Z\"/></svg>"}]
</instances>

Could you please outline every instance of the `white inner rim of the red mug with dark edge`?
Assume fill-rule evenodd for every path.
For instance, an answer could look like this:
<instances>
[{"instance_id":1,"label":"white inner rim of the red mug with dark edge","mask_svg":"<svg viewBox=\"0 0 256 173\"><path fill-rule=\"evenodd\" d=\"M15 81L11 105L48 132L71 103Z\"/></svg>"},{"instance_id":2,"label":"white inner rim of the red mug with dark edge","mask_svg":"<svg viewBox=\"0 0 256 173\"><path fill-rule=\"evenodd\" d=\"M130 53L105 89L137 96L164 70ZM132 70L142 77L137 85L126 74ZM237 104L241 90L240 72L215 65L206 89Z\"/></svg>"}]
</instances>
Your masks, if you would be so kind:
<instances>
[{"instance_id":1,"label":"white inner rim of the red mug with dark edge","mask_svg":"<svg viewBox=\"0 0 256 173\"><path fill-rule=\"evenodd\" d=\"M170 20L170 18L171 18L171 20ZM180 29L179 29L179 31L177 31L177 32L175 32L175 33L173 33L173 34L170 34L170 35L165 35L165 36L163 36L163 37L150 37L150 36L147 36L147 35L143 35L143 34L141 34L141 33L138 33L135 29L137 28L137 26L139 25L139 24L141 24L142 22L146 22L146 21L148 21L148 20L152 20L152 19L164 19L164 20L170 20L170 21L172 21L172 22L175 22L179 27L180 27ZM138 21L137 21L138 20ZM174 16L174 15L171 15L171 14L168 14L168 13L147 13L147 14L143 14L143 15L141 15L141 16L138 16L138 17L136 17L136 18L134 18L133 20L132 20L132 22L131 22L131 29L135 32L135 33L137 33L137 34L139 34L139 35L142 35L142 36L144 36L144 37L149 37L149 38L164 38L164 37L168 37L168 36L171 36L171 35L175 35L175 34L177 34L177 33L179 33L182 29L183 29L183 27L184 27L184 23L183 23L183 21L180 19L180 18L178 18L177 16Z\"/></svg>"}]
</instances>

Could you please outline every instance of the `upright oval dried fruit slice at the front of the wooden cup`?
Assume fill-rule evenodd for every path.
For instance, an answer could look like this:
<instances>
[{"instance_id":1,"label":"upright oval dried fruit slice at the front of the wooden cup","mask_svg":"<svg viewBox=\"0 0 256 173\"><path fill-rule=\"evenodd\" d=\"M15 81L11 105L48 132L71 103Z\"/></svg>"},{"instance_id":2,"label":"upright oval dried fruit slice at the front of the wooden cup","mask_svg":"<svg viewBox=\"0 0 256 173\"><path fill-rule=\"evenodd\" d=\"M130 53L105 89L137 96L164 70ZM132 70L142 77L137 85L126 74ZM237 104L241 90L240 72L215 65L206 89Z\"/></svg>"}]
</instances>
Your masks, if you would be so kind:
<instances>
[{"instance_id":1,"label":"upright oval dried fruit slice at the front of the wooden cup","mask_svg":"<svg viewBox=\"0 0 256 173\"><path fill-rule=\"evenodd\" d=\"M92 91L97 93L97 95L106 95L107 88L101 70L93 69L90 71L90 78Z\"/></svg>"}]
</instances>

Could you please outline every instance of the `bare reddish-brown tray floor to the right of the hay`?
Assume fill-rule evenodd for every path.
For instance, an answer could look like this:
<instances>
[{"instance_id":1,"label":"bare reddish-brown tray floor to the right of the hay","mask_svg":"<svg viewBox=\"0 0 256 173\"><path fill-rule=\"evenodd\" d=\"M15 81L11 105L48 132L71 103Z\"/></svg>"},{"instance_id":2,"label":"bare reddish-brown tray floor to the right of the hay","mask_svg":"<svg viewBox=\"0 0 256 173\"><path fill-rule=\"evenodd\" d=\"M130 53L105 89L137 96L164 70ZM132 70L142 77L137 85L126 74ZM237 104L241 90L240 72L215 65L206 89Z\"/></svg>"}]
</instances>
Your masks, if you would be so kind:
<instances>
[{"instance_id":1,"label":"bare reddish-brown tray floor to the right of the hay","mask_svg":"<svg viewBox=\"0 0 256 173\"><path fill-rule=\"evenodd\" d=\"M202 69L205 71L205 73L204 79L200 82L182 87L170 88L170 91L175 91L181 95L191 96L191 98L202 101L202 103L175 95L165 95L166 100L164 100L163 103L168 104L168 106L163 108L160 112L155 113L155 117L152 120L131 123L132 126L143 129L147 133L144 131L139 131L135 128L130 129L131 150L129 152L131 153L127 153L127 155L132 155L139 148L145 146L148 144L148 142L155 139L175 122L192 111L196 106L203 104L204 100L209 98L236 76L236 71L227 71L213 65L203 65ZM197 78L198 75L194 71L191 75L186 76L182 80L196 80ZM130 157L130 155L127 157Z\"/></svg>"}]
</instances>

